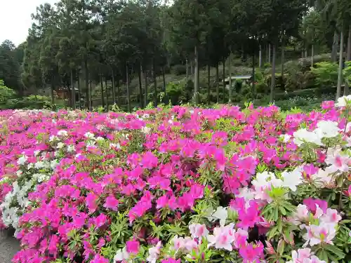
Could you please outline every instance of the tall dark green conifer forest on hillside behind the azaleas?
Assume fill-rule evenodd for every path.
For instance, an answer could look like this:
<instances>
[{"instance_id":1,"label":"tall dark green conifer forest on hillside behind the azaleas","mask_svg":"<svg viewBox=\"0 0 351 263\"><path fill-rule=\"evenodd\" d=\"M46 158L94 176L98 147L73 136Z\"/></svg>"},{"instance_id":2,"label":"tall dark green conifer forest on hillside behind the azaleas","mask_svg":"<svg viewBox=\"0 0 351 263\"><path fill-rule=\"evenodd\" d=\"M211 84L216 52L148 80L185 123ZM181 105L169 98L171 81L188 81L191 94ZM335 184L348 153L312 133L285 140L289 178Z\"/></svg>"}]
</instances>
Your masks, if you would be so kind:
<instances>
[{"instance_id":1,"label":"tall dark green conifer forest on hillside behind the azaleas","mask_svg":"<svg viewBox=\"0 0 351 263\"><path fill-rule=\"evenodd\" d=\"M284 52L291 49L312 67L317 53L331 53L331 62L339 61L339 97L344 58L351 59L349 0L60 0L38 6L32 20L24 43L1 44L0 79L18 96L50 87L51 104L65 88L72 108L91 109L96 94L102 107L109 107L109 97L119 105L125 97L129 111L131 100L140 108L150 101L156 106L167 95L169 72L186 75L184 100L231 102L232 89L222 81L234 58L250 67L251 97L258 93L257 72L270 69L265 89L273 102L277 74L286 73ZM202 69L208 77L200 87ZM133 79L138 84L131 88Z\"/></svg>"}]
</instances>

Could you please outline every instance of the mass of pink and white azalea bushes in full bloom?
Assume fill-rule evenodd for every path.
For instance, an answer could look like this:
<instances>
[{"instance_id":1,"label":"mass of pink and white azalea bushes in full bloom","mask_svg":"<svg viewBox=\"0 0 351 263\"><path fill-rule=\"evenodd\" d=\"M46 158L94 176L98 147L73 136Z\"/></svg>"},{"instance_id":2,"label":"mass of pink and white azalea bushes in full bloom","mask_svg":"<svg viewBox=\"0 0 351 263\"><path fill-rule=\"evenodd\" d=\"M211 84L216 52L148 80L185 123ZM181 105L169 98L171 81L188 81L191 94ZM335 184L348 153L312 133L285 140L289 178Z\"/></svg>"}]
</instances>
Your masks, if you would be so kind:
<instances>
[{"instance_id":1,"label":"mass of pink and white azalea bushes in full bloom","mask_svg":"<svg viewBox=\"0 0 351 263\"><path fill-rule=\"evenodd\" d=\"M0 112L13 262L350 262L350 109Z\"/></svg>"}]
</instances>

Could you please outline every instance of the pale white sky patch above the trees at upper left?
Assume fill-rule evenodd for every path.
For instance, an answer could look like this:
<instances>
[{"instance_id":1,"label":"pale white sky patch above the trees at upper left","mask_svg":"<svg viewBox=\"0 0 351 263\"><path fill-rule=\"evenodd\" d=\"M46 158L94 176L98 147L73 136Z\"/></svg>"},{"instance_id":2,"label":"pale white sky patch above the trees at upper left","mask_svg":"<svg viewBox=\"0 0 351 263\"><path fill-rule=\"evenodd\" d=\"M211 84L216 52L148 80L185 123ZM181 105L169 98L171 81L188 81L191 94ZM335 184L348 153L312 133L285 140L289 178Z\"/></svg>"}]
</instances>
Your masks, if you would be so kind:
<instances>
[{"instance_id":1,"label":"pale white sky patch above the trees at upper left","mask_svg":"<svg viewBox=\"0 0 351 263\"><path fill-rule=\"evenodd\" d=\"M9 39L16 46L25 41L32 26L32 13L44 3L57 0L0 0L0 43Z\"/></svg>"}]
</instances>

